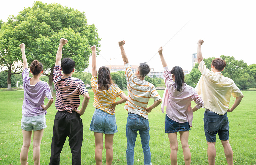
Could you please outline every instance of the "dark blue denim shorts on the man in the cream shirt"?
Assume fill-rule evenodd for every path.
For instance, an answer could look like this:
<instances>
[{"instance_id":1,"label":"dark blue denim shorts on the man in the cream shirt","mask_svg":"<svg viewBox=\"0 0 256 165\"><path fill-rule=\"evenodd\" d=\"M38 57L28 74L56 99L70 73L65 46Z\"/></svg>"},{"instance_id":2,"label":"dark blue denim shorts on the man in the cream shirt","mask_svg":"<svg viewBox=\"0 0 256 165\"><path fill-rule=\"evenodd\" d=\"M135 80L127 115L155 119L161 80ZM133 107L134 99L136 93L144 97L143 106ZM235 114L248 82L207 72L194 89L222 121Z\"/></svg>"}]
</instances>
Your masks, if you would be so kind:
<instances>
[{"instance_id":1,"label":"dark blue denim shorts on the man in the cream shirt","mask_svg":"<svg viewBox=\"0 0 256 165\"><path fill-rule=\"evenodd\" d=\"M229 123L227 113L224 115L219 115L212 111L205 111L204 127L207 142L216 142L217 132L220 140L226 141L229 139Z\"/></svg>"}]
</instances>

